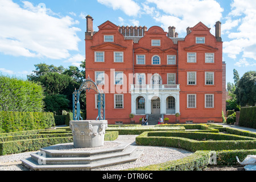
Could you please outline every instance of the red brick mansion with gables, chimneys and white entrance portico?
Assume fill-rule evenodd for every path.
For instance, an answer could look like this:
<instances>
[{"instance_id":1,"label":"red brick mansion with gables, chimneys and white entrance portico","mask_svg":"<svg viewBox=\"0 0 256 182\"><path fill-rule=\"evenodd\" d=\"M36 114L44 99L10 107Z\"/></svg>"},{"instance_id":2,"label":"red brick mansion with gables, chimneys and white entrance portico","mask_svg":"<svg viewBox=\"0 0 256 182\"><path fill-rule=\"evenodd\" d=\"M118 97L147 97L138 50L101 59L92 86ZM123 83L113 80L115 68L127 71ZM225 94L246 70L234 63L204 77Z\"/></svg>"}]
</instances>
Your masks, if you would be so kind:
<instances>
[{"instance_id":1,"label":"red brick mansion with gables, chimneys and white entrance portico","mask_svg":"<svg viewBox=\"0 0 256 182\"><path fill-rule=\"evenodd\" d=\"M86 77L105 92L109 124L135 123L159 114L175 123L222 122L225 111L225 64L222 63L220 22L216 36L203 23L187 28L177 38L158 26L119 27L110 21L93 32L87 16L85 32ZM94 92L86 92L87 119L97 117Z\"/></svg>"}]
</instances>

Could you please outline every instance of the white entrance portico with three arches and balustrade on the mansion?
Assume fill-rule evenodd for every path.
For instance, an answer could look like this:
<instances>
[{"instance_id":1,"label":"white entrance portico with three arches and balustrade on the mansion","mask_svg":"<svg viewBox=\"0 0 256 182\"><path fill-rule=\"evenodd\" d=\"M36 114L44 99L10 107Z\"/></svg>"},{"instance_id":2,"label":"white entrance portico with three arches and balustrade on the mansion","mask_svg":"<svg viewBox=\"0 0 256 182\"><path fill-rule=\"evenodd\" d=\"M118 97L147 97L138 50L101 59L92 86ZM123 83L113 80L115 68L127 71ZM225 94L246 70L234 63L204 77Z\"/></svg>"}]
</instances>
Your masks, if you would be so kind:
<instances>
[{"instance_id":1,"label":"white entrance portico with three arches and balustrade on the mansion","mask_svg":"<svg viewBox=\"0 0 256 182\"><path fill-rule=\"evenodd\" d=\"M132 114L175 114L179 112L179 85L154 87L152 85L131 85Z\"/></svg>"}]
</instances>

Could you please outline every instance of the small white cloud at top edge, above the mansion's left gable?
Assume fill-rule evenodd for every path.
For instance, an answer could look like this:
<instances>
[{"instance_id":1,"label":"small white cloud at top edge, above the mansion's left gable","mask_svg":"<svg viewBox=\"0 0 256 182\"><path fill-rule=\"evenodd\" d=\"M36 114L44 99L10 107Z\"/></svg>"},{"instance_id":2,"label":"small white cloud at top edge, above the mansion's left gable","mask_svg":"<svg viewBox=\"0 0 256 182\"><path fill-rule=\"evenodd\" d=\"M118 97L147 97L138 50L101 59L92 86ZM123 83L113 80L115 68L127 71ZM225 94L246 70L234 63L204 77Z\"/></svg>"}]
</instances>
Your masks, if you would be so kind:
<instances>
[{"instance_id":1,"label":"small white cloud at top edge, above the mansion's left gable","mask_svg":"<svg viewBox=\"0 0 256 182\"><path fill-rule=\"evenodd\" d=\"M112 7L113 10L122 10L126 15L136 16L141 7L133 0L97 0L102 5Z\"/></svg>"}]
</instances>

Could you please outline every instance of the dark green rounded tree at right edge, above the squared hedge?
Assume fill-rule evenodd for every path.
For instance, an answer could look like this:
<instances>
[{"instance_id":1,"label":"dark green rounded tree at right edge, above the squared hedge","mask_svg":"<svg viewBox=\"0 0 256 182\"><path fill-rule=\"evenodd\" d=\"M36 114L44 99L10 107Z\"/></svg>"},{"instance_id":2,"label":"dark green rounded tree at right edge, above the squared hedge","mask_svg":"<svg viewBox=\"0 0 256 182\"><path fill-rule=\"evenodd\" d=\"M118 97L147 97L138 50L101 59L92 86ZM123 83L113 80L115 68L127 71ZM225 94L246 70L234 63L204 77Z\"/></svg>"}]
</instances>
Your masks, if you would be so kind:
<instances>
[{"instance_id":1,"label":"dark green rounded tree at right edge, above the squared hedge","mask_svg":"<svg viewBox=\"0 0 256 182\"><path fill-rule=\"evenodd\" d=\"M246 72L238 81L234 92L241 106L254 106L256 102L256 71Z\"/></svg>"}]
</instances>

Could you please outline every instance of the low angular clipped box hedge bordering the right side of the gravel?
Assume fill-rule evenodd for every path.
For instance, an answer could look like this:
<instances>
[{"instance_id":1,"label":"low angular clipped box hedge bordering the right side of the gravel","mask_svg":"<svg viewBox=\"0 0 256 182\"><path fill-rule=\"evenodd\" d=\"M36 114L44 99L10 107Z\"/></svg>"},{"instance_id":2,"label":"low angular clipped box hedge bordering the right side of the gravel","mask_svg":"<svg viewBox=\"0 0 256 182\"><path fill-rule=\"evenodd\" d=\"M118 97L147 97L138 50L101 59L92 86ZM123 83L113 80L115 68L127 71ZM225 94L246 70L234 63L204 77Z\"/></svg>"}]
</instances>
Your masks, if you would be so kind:
<instances>
[{"instance_id":1,"label":"low angular clipped box hedge bordering the right side of the gravel","mask_svg":"<svg viewBox=\"0 0 256 182\"><path fill-rule=\"evenodd\" d=\"M162 135L175 135L171 131L162 132ZM240 140L208 140L208 141L198 141L195 139L182 138L180 136L189 135L202 135L203 137L207 137L209 133L180 133L179 136L175 137L159 137L156 135L160 135L160 132L144 132L136 138L136 143L139 145L146 146L167 146L167 147L175 147L175 148L183 148L188 151L195 152L197 150L236 150L236 149L254 149L256 148L256 139L249 137L239 137ZM155 135L154 137L150 137ZM213 134L212 134L213 135ZM220 134L216 134L220 135ZM223 134L224 135L224 134ZM222 136L223 137L223 136ZM232 136L234 137L234 136ZM235 137L234 137L235 138ZM241 140L243 138L243 140Z\"/></svg>"}]
</instances>

